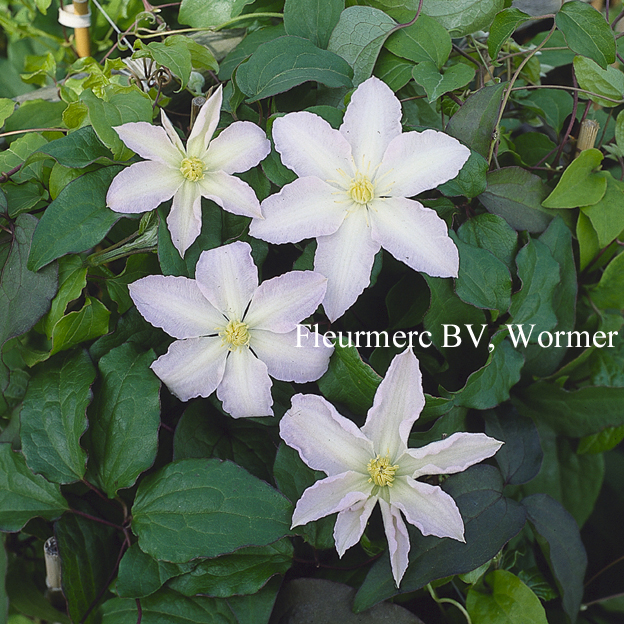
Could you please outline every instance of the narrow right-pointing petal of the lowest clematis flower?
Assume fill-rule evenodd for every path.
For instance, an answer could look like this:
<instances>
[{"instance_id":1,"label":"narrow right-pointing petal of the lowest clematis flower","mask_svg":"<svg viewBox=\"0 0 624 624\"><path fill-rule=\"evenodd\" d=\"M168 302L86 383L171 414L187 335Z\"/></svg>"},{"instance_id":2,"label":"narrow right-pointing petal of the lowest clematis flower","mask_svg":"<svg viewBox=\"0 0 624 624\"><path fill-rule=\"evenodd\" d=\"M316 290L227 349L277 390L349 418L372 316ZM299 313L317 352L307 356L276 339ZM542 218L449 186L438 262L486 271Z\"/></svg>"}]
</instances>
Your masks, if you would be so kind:
<instances>
[{"instance_id":1,"label":"narrow right-pointing petal of the lowest clematis flower","mask_svg":"<svg viewBox=\"0 0 624 624\"><path fill-rule=\"evenodd\" d=\"M462 472L495 455L502 445L484 433L454 433L422 448L408 449L406 461L401 461L401 472L409 473L414 479L422 475Z\"/></svg>"}]
</instances>

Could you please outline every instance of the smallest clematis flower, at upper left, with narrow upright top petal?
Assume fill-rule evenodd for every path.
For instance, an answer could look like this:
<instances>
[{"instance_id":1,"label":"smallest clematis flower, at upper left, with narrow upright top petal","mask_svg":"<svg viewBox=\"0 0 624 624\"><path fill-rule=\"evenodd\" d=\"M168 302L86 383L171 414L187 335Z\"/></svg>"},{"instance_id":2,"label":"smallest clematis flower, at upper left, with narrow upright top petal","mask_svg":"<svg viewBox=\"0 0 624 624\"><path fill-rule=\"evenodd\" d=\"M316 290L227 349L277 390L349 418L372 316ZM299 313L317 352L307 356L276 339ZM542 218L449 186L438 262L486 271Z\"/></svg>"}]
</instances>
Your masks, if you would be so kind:
<instances>
[{"instance_id":1,"label":"smallest clematis flower, at upper left, with narrow upright top petal","mask_svg":"<svg viewBox=\"0 0 624 624\"><path fill-rule=\"evenodd\" d=\"M221 99L219 86L199 111L186 147L163 110L162 127L142 121L115 127L121 140L147 160L115 177L107 205L116 212L146 212L173 197L167 227L182 257L201 232L202 197L235 215L262 218L253 189L232 174L255 167L271 144L249 121L237 121L211 140Z\"/></svg>"}]
</instances>

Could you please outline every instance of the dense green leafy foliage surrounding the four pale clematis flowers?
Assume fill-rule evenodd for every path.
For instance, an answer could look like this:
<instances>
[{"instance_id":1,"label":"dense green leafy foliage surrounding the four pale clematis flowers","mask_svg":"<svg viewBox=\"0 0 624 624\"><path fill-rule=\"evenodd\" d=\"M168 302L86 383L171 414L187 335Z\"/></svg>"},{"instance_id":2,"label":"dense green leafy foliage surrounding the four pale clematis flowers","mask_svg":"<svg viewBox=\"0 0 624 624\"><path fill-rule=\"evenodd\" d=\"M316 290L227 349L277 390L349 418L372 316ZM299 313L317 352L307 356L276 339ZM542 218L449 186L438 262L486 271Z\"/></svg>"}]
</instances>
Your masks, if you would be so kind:
<instances>
[{"instance_id":1,"label":"dense green leafy foliage surrounding the four pale clematis flowers","mask_svg":"<svg viewBox=\"0 0 624 624\"><path fill-rule=\"evenodd\" d=\"M258 624L296 577L351 585L356 611L394 599L427 622L459 621L458 606L474 624L621 620L624 13L510 4L112 0L118 32L94 10L94 58L77 60L56 2L0 0L0 621ZM337 347L317 383L274 383L274 418L233 420L215 397L182 404L149 369L169 339L127 285L193 277L201 251L234 240L268 279L311 269L315 243L269 246L203 200L182 259L161 226L168 205L141 219L105 205L135 159L112 126L164 107L184 135L191 98L220 82L221 127L250 120L270 137L276 116L304 109L338 127L371 75L401 100L405 130L471 149L419 198L449 225L460 273L419 275L380 252L331 329L430 332L431 347L415 342L427 404L412 446L465 430L506 443L441 480L466 544L410 528L400 589L378 515L342 560L332 518L289 528L321 475L277 434L300 391L361 425L398 349ZM294 174L273 150L241 177L262 200ZM310 321L329 329L322 313ZM612 347L540 342L573 331L619 333ZM51 536L60 598L44 596Z\"/></svg>"}]
</instances>

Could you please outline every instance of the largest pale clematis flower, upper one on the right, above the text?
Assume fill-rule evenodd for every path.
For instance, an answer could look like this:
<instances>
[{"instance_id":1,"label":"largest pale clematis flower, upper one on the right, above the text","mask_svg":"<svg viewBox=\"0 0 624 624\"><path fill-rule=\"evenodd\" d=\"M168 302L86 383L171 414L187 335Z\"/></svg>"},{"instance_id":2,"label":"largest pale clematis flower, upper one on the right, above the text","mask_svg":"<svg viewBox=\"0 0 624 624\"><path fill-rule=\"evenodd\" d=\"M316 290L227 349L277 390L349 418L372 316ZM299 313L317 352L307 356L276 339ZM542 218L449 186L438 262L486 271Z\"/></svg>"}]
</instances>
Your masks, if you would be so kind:
<instances>
[{"instance_id":1,"label":"largest pale clematis flower, upper one on the right, above the text","mask_svg":"<svg viewBox=\"0 0 624 624\"><path fill-rule=\"evenodd\" d=\"M273 124L282 162L299 178L262 202L252 236L271 243L316 238L314 270L328 279L333 321L370 282L380 247L416 271L457 276L459 255L435 211L407 199L454 178L470 150L435 130L401 132L401 104L369 78L353 93L340 130L309 112Z\"/></svg>"}]
</instances>

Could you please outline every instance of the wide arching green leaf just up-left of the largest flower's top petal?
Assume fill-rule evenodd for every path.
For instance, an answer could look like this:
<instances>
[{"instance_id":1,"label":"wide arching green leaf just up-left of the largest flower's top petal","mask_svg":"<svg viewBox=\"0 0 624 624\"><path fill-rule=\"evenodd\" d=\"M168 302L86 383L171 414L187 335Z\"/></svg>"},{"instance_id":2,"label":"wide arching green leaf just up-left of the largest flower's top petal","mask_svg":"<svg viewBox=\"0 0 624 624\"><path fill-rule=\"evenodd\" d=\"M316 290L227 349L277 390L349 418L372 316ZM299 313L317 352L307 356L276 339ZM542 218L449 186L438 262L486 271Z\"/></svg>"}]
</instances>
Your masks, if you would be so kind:
<instances>
[{"instance_id":1,"label":"wide arching green leaf just up-left of the largest flower's top petal","mask_svg":"<svg viewBox=\"0 0 624 624\"><path fill-rule=\"evenodd\" d=\"M236 79L249 102L256 102L309 80L328 87L350 87L351 75L351 67L337 54L307 39L286 36L262 44L238 68Z\"/></svg>"}]
</instances>

